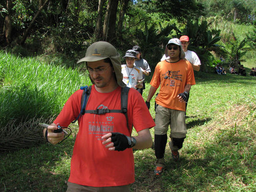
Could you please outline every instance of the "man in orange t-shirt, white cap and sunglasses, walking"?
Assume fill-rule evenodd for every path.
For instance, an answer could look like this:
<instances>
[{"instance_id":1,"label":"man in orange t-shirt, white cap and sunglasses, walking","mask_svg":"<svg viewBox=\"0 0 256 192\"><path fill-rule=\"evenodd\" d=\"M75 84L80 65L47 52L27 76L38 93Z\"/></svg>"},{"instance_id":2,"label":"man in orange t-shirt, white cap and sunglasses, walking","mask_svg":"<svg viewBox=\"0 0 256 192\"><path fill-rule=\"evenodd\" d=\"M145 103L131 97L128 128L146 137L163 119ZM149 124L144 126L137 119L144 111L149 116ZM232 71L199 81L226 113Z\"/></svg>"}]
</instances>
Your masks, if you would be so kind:
<instances>
[{"instance_id":1,"label":"man in orange t-shirt, white cap and sunglasses, walking","mask_svg":"<svg viewBox=\"0 0 256 192\"><path fill-rule=\"evenodd\" d=\"M146 100L149 109L150 100L161 85L156 97L154 142L157 158L154 170L156 175L162 174L165 167L164 152L169 125L171 129L169 146L172 150L172 157L175 161L179 159L178 150L182 147L187 132L185 102L191 86L196 84L192 65L189 61L184 60L185 54L181 41L178 38L170 39L166 48L169 58L157 64Z\"/></svg>"}]
</instances>

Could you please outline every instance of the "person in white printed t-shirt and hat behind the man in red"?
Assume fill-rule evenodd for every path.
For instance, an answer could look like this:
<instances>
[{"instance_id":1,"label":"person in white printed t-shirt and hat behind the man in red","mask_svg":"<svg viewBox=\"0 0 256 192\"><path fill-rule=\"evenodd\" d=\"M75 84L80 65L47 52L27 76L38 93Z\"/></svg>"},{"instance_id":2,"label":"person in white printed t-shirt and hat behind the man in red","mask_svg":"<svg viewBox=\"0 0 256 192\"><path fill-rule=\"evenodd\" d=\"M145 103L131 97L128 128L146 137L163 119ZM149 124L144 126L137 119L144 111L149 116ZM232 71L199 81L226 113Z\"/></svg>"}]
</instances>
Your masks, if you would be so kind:
<instances>
[{"instance_id":1,"label":"person in white printed t-shirt and hat behind the man in red","mask_svg":"<svg viewBox=\"0 0 256 192\"><path fill-rule=\"evenodd\" d=\"M126 61L126 65L121 66L123 82L129 88L141 89L143 87L143 84L139 82L142 80L142 71L140 70L140 67L134 66L136 55L136 51L128 50L123 57Z\"/></svg>"}]
</instances>

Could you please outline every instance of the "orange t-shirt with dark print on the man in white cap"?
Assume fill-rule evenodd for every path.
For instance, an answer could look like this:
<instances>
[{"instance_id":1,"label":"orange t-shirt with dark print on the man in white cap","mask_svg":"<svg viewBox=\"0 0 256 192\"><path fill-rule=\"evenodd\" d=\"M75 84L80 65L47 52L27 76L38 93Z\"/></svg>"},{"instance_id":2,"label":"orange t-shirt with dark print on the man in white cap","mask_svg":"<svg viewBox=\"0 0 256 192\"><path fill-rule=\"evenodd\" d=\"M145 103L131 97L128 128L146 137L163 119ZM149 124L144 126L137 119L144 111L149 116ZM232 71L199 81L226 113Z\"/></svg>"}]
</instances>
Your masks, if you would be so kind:
<instances>
[{"instance_id":1,"label":"orange t-shirt with dark print on the man in white cap","mask_svg":"<svg viewBox=\"0 0 256 192\"><path fill-rule=\"evenodd\" d=\"M158 88L160 92L156 97L156 103L165 108L185 111L185 102L180 102L178 95L184 92L186 84L196 84L194 71L189 61L179 60L168 62L163 60L157 63L151 86Z\"/></svg>"}]
</instances>

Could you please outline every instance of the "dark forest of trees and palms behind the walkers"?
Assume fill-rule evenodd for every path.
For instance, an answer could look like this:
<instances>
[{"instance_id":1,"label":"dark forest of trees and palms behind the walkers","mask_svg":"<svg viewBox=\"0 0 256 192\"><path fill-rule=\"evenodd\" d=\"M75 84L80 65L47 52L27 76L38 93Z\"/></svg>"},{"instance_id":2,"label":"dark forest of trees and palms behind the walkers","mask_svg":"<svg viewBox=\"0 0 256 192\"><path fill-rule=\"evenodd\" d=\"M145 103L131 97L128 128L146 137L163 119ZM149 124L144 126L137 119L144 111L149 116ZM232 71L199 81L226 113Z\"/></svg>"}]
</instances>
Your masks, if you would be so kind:
<instances>
[{"instance_id":1,"label":"dark forest of trees and palms behind the walkers","mask_svg":"<svg viewBox=\"0 0 256 192\"><path fill-rule=\"evenodd\" d=\"M154 69L168 39L186 34L206 72L220 56L237 67L246 51L255 48L254 0L0 2L2 48L22 56L42 55L49 62L61 59L67 67L74 68L99 40L113 44L121 56L139 45Z\"/></svg>"}]
</instances>

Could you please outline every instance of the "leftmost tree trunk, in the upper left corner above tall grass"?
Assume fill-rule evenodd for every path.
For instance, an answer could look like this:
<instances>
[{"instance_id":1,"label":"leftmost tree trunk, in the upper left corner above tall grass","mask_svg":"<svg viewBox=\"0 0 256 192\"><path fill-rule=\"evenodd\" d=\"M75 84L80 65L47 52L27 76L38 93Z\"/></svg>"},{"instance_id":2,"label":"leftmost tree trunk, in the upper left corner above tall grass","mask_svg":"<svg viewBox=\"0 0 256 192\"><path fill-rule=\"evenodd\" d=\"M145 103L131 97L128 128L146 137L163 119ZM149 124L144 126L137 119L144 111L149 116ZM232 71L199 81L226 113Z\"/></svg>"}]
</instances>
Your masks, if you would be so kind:
<instances>
[{"instance_id":1,"label":"leftmost tree trunk, in the upper left corner above tall grass","mask_svg":"<svg viewBox=\"0 0 256 192\"><path fill-rule=\"evenodd\" d=\"M4 35L7 41L7 44L10 44L12 42L12 0L7 0L6 8L8 11L8 15L5 17L5 23L4 23Z\"/></svg>"}]
</instances>

